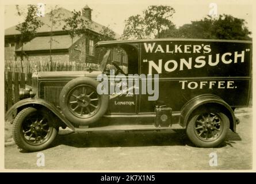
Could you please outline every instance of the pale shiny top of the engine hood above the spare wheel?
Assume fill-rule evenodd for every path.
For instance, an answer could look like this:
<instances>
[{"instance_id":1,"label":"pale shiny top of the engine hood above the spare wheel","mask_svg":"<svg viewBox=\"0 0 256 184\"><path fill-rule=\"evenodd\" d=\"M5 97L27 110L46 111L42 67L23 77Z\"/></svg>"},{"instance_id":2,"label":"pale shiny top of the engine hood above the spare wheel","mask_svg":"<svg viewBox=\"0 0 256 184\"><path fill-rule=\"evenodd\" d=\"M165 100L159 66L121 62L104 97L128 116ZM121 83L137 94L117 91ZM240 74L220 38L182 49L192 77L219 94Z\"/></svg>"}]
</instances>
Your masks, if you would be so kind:
<instances>
[{"instance_id":1,"label":"pale shiny top of the engine hood above the spare wheel","mask_svg":"<svg viewBox=\"0 0 256 184\"><path fill-rule=\"evenodd\" d=\"M97 78L98 75L102 74L101 71L44 71L33 74L39 79L44 78L77 78L79 76L87 76L91 78Z\"/></svg>"}]
</instances>

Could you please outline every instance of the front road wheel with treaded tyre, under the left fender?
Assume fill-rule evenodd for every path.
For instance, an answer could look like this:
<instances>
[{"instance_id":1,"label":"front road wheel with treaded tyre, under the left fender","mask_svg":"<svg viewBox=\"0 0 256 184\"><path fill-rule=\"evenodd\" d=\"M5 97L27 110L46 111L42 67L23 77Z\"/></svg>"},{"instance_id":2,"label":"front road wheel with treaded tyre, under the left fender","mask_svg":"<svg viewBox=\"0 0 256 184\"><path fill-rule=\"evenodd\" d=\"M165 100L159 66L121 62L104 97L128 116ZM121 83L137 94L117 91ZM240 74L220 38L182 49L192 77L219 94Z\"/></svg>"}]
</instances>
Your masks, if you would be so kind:
<instances>
[{"instance_id":1,"label":"front road wheel with treaded tyre, under the left fender","mask_svg":"<svg viewBox=\"0 0 256 184\"><path fill-rule=\"evenodd\" d=\"M25 108L13 121L13 139L22 150L33 152L47 148L58 131L52 114L47 110Z\"/></svg>"}]
</instances>

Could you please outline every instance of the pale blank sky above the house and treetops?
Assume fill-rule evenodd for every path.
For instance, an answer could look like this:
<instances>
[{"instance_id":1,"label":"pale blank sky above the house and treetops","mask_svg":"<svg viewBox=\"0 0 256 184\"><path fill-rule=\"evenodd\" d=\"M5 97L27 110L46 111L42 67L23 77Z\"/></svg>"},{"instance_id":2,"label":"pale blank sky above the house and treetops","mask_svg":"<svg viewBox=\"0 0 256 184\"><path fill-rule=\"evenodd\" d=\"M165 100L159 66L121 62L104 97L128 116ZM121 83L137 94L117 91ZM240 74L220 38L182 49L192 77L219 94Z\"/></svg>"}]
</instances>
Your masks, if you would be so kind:
<instances>
[{"instance_id":1,"label":"pale blank sky above the house and treetops","mask_svg":"<svg viewBox=\"0 0 256 184\"><path fill-rule=\"evenodd\" d=\"M9 1L8 1L9 2ZM24 1L21 1L24 3ZM175 9L175 13L171 21L179 27L184 24L189 24L191 21L201 20L209 14L212 9L209 7L211 1L72 1L72 3L64 4L55 0L46 1L45 13L57 4L59 7L64 7L68 10L81 10L82 7L88 5L92 11L92 20L102 25L109 26L115 32L122 34L124 30L124 20L129 16L142 14L142 11L147 9L150 5L170 5ZM225 4L221 4L219 1L215 1L217 7L217 14L230 14L237 18L243 18L246 20L246 26L250 31L253 29L253 11L251 5L246 5L246 1L225 1ZM35 3L35 1L34 1ZM22 18L17 15L15 2L13 5L7 5L5 3L5 29L10 26L17 25L22 21ZM25 5L23 5L26 7ZM21 6L22 7L22 6Z\"/></svg>"}]
</instances>

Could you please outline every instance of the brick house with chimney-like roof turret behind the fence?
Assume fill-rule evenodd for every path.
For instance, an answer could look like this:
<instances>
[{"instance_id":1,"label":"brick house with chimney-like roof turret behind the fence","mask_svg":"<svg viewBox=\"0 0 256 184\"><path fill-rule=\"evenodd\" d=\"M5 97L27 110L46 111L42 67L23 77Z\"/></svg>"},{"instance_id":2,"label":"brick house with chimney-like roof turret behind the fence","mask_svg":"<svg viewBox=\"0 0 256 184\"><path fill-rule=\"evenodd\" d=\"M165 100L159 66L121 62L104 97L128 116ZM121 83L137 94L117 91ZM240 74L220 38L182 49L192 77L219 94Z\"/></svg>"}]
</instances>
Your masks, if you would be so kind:
<instances>
[{"instance_id":1,"label":"brick house with chimney-like roof turret behind the fence","mask_svg":"<svg viewBox=\"0 0 256 184\"><path fill-rule=\"evenodd\" d=\"M101 60L100 53L94 51L94 44L99 41L103 25L91 20L91 9L87 5L82 9L83 18L90 21L90 27L86 30L85 36L75 37L71 40L70 36L62 28L64 25L64 18L72 16L71 11L62 7L56 9L56 14L61 14L62 20L54 26L52 31L52 47L51 56L54 62L87 62L99 63ZM45 17L39 17L44 25L37 30L37 35L34 39L25 43L23 46L24 60L29 62L42 61L48 62L50 55L50 40L51 28L49 21L49 14ZM5 29L5 60L14 61L20 59L21 44L19 42L20 32L16 30L16 26ZM116 33L116 39L120 36ZM122 53L112 53L113 58L123 59L126 57L114 57ZM124 53L123 53L124 55ZM127 60L127 59L125 59ZM121 62L119 60L119 62ZM124 61L125 62L125 61Z\"/></svg>"}]
</instances>

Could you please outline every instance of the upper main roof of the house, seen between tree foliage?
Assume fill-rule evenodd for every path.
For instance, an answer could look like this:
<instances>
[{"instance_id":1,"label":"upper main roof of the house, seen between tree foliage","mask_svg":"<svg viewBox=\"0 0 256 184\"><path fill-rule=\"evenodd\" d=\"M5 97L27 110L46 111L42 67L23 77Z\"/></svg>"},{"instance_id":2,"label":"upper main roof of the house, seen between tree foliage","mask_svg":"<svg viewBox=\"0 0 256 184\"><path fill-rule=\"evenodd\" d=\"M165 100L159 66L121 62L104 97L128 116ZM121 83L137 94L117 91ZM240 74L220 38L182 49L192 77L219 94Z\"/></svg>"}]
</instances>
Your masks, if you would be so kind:
<instances>
[{"instance_id":1,"label":"upper main roof of the house, seen between tree foliage","mask_svg":"<svg viewBox=\"0 0 256 184\"><path fill-rule=\"evenodd\" d=\"M60 7L59 9L56 9L55 10L56 12L56 15L60 14L60 21L58 22L58 24L56 24L54 26L54 28L52 29L53 32L56 32L56 31L63 31L63 26L64 26L64 19L65 18L68 18L68 17L71 17L72 16L72 12L67 10L67 9L64 9L63 7ZM43 26L41 26L38 30L37 30L37 33L45 33L45 32L51 32L51 28L49 27L49 25L51 25L51 22L49 21L50 20L50 15L49 13L45 14L44 17L39 17L39 20L42 21L44 23ZM91 22L90 25L89 25L89 30L92 30L93 32L96 32L96 33L101 33L101 30L102 30L102 27L103 25L101 24L98 24L97 22L94 22L94 21L90 21L88 18L86 17L82 17L84 18L85 20ZM9 35L15 35L15 34L20 34L20 32L18 30L16 30L16 26L12 26L10 28L7 28L5 29L5 36L9 36ZM116 39L118 39L120 37L119 34L116 33Z\"/></svg>"}]
</instances>

